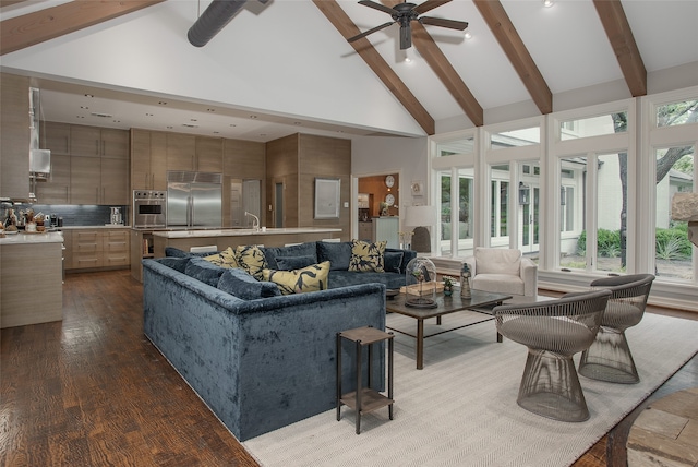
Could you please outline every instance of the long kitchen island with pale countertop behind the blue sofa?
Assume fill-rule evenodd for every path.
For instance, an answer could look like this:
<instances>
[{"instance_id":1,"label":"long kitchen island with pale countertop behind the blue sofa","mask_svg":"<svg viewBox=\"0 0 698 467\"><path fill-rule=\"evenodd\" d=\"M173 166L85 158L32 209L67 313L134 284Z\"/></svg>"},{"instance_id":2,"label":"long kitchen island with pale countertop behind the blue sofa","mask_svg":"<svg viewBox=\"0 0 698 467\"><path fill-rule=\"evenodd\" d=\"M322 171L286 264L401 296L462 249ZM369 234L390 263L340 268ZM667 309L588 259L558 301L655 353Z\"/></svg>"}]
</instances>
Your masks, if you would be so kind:
<instances>
[{"instance_id":1,"label":"long kitchen island with pale countertop behind the blue sofa","mask_svg":"<svg viewBox=\"0 0 698 467\"><path fill-rule=\"evenodd\" d=\"M278 229L217 229L217 230L172 230L153 232L155 258L165 256L166 247L190 251L192 247L210 247L220 251L228 247L258 244L284 247L289 243L339 239L341 229L322 227L293 227Z\"/></svg>"}]
</instances>

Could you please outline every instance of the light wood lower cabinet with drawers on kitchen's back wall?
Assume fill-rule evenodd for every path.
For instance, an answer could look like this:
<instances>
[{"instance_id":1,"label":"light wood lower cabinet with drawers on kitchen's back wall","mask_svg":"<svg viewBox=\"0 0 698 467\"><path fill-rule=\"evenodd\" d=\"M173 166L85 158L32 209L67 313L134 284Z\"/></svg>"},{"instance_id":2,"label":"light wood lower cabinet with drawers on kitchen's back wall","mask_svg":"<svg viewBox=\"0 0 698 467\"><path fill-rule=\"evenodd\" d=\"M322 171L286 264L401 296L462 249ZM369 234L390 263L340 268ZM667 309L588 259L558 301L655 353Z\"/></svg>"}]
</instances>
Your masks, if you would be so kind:
<instances>
[{"instance_id":1,"label":"light wood lower cabinet with drawers on kitchen's back wall","mask_svg":"<svg viewBox=\"0 0 698 467\"><path fill-rule=\"evenodd\" d=\"M75 229L65 241L65 268L93 270L124 267L131 264L129 230ZM70 262L68 261L70 259Z\"/></svg>"}]
</instances>

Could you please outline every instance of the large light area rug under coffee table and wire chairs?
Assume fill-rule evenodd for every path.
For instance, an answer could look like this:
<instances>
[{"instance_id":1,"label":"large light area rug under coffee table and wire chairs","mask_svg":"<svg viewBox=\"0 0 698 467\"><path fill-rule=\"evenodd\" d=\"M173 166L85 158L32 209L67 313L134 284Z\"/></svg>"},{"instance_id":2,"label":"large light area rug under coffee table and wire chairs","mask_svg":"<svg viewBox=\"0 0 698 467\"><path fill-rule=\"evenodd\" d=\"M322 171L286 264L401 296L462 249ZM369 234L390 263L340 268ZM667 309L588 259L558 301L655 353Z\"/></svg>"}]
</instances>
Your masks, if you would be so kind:
<instances>
[{"instance_id":1,"label":"large light area rug under coffee table and wire chairs","mask_svg":"<svg viewBox=\"0 0 698 467\"><path fill-rule=\"evenodd\" d=\"M472 319L455 313L442 326ZM414 320L387 321L414 332ZM414 339L396 333L394 420L387 407L364 415L357 435L354 412L344 406L340 421L329 410L243 444L263 466L567 466L698 351L698 321L646 313L626 335L640 383L579 376L591 415L585 422L516 404L527 348L497 344L489 321L428 338L423 370L414 366Z\"/></svg>"}]
</instances>

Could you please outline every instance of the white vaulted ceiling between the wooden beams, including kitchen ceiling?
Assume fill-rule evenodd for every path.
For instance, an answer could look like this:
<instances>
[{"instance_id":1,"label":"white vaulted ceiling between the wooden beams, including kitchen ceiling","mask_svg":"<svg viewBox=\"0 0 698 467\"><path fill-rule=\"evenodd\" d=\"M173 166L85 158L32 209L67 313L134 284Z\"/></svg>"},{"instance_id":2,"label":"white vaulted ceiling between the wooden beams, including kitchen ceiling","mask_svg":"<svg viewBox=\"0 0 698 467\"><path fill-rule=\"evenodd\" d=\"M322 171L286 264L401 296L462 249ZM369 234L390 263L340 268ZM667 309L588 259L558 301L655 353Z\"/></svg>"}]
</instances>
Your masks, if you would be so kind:
<instances>
[{"instance_id":1,"label":"white vaulted ceiling between the wooden beams, including kitchen ceiling","mask_svg":"<svg viewBox=\"0 0 698 467\"><path fill-rule=\"evenodd\" d=\"M27 0L0 13L5 21L61 3ZM296 132L426 134L311 0L266 5L250 0L196 48L186 32L208 3L165 1L5 53L0 67L37 77L43 117L52 121L254 141ZM389 21L357 1L338 3L361 31ZM552 8L542 0L502 0L502 5L553 93L554 109L555 95L623 80L591 0L557 0ZM698 62L698 1L623 0L622 5L648 72ZM457 31L426 31L485 117L490 109L531 101L471 0L454 0L429 15L469 22L470 39ZM368 38L436 128L441 121L473 125L417 47L399 50L397 25ZM693 80L698 84L698 76Z\"/></svg>"}]
</instances>

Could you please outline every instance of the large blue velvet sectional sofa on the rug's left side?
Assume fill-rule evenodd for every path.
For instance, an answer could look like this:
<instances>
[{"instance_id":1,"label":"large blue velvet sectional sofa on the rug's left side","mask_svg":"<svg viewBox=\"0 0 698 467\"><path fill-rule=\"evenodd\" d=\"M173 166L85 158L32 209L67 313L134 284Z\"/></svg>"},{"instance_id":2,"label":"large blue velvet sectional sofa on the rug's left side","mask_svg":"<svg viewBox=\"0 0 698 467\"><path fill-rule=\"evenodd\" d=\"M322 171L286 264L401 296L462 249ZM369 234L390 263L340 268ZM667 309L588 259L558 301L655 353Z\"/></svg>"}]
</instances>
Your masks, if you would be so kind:
<instances>
[{"instance_id":1,"label":"large blue velvet sectional sofa on the rug's left side","mask_svg":"<svg viewBox=\"0 0 698 467\"><path fill-rule=\"evenodd\" d=\"M217 266L202 270L205 261L193 254L143 260L145 335L240 441L335 407L337 333L385 330L386 287L404 285L416 255L394 250L395 272L350 273L335 268L347 244L318 243L264 249L269 266L278 258L335 255L327 290L287 296L231 270L219 274L226 291L212 279ZM351 391L354 347L342 352L342 387ZM373 358L374 381L384 381L385 355Z\"/></svg>"}]
</instances>

